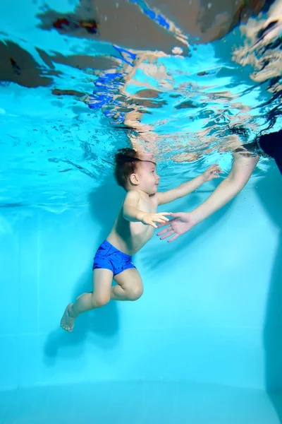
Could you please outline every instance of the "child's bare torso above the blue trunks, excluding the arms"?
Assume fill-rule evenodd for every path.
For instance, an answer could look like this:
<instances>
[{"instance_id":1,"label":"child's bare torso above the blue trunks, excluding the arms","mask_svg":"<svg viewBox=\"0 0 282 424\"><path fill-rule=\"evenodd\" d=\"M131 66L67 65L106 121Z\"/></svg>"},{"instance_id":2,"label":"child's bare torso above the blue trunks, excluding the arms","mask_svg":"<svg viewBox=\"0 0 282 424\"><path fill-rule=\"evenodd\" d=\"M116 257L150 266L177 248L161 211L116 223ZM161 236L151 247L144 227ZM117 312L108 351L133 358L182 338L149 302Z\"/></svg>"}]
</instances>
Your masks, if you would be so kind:
<instances>
[{"instance_id":1,"label":"child's bare torso above the blue trunks, excluding the arms","mask_svg":"<svg viewBox=\"0 0 282 424\"><path fill-rule=\"evenodd\" d=\"M155 213L157 206L157 194L153 194L147 199L141 198L137 208L148 213ZM153 234L154 228L151 225L125 220L123 218L123 206L121 206L114 227L106 240L121 252L132 256L152 238Z\"/></svg>"}]
</instances>

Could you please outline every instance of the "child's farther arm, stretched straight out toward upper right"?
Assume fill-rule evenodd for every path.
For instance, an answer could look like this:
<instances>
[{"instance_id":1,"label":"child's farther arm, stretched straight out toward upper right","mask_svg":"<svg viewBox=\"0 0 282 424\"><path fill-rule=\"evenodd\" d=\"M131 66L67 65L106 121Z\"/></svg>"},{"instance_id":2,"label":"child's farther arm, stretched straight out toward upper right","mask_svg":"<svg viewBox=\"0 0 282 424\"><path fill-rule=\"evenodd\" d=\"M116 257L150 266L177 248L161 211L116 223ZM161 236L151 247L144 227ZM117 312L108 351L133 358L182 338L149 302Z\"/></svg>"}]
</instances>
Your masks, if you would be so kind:
<instances>
[{"instance_id":1,"label":"child's farther arm, stretched straight out toward upper right","mask_svg":"<svg viewBox=\"0 0 282 424\"><path fill-rule=\"evenodd\" d=\"M204 184L204 182L210 181L213 178L219 178L219 172L221 169L219 165L215 164L210 166L205 172L203 172L199 177L193 178L184 184L176 187L176 189L168 190L167 192L158 193L158 204L163 205L167 204L170 201L180 199L180 197L186 196L191 192L194 192L195 189Z\"/></svg>"}]
</instances>

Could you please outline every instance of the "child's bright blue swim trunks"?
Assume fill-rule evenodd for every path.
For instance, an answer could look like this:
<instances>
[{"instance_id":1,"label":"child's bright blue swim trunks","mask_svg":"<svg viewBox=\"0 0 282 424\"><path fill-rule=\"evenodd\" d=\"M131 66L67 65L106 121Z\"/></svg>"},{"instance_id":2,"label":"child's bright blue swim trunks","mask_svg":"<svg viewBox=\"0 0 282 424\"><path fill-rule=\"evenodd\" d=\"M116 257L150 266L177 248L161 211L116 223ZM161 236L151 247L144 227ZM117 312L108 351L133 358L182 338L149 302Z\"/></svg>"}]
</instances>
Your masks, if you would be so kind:
<instances>
[{"instance_id":1,"label":"child's bright blue swim trunks","mask_svg":"<svg viewBox=\"0 0 282 424\"><path fill-rule=\"evenodd\" d=\"M125 269L136 268L133 265L132 257L116 249L106 240L97 250L94 256L92 269L109 269L116 274L125 271Z\"/></svg>"}]
</instances>

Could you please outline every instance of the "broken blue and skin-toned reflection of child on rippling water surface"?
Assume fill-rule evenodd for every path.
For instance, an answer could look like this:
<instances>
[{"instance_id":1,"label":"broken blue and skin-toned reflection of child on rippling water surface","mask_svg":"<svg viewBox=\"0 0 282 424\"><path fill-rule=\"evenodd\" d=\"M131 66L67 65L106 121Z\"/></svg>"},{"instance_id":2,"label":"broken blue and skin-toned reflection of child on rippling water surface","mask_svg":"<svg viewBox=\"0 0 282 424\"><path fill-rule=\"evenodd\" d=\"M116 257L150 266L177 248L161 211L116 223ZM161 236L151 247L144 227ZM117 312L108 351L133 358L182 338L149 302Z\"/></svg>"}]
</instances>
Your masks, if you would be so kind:
<instances>
[{"instance_id":1,"label":"broken blue and skin-toned reflection of child on rippling water surface","mask_svg":"<svg viewBox=\"0 0 282 424\"><path fill-rule=\"evenodd\" d=\"M151 107L151 100L158 96L161 91L173 90L173 78L166 71L164 64L158 64L158 59L168 57L164 52L133 51L114 46L119 54L116 59L116 69L107 71L95 71L98 79L94 82L96 88L92 95L85 95L81 100L90 109L99 109L112 119L112 123L122 123L130 129L137 131L138 136L128 134L133 148L139 150L146 148L150 152L157 151L157 134L153 131L154 126L142 123L142 116ZM176 54L177 55L177 49ZM135 78L136 71L142 71L150 79L155 81L155 86ZM140 86L140 91L132 93L128 86ZM158 88L157 88L158 87ZM160 91L161 88L161 91ZM142 92L144 98L142 97ZM154 103L153 103L154 105Z\"/></svg>"}]
</instances>

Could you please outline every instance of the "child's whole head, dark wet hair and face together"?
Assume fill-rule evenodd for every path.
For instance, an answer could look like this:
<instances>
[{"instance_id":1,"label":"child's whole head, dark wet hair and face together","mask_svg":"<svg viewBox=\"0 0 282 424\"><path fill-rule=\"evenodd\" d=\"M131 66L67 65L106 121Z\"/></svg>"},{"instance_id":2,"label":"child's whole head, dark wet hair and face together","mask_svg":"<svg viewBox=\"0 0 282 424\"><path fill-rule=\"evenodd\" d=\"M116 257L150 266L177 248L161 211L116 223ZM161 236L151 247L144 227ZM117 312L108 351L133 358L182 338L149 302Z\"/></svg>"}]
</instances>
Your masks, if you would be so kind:
<instances>
[{"instance_id":1,"label":"child's whole head, dark wet hair and face together","mask_svg":"<svg viewBox=\"0 0 282 424\"><path fill-rule=\"evenodd\" d=\"M133 148L122 148L116 153L115 177L118 185L126 191L141 190L147 194L154 194L159 185L156 164L141 159Z\"/></svg>"}]
</instances>

